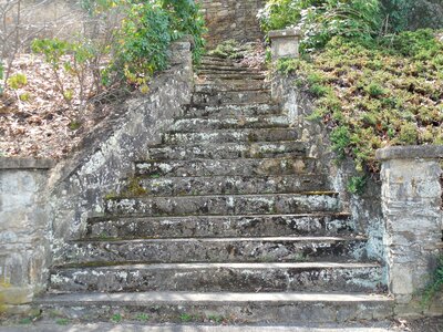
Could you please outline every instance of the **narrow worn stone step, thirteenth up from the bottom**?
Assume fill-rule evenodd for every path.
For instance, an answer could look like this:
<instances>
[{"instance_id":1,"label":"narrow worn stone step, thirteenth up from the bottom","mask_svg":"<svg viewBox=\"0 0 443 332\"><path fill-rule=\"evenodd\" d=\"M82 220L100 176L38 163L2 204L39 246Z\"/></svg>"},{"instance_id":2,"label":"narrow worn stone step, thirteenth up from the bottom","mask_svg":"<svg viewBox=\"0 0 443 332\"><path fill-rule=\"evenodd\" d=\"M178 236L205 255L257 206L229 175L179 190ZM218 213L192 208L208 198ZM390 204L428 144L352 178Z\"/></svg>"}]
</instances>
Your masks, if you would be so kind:
<instances>
[{"instance_id":1,"label":"narrow worn stone step, thirteenth up from the bottom","mask_svg":"<svg viewBox=\"0 0 443 332\"><path fill-rule=\"evenodd\" d=\"M258 80L205 80L195 84L195 92L214 93L215 91L257 91L269 90L269 82L261 82Z\"/></svg>"}]
</instances>

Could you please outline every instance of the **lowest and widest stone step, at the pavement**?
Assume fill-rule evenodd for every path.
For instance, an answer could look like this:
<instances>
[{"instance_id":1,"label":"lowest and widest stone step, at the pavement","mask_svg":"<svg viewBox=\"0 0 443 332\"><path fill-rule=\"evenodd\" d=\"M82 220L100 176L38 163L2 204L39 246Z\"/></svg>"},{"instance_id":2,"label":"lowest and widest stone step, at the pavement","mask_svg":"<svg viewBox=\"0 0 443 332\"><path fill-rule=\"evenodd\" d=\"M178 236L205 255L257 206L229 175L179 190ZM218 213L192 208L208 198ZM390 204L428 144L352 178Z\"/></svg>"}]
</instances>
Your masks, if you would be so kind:
<instances>
[{"instance_id":1,"label":"lowest and widest stone step, at the pavement","mask_svg":"<svg viewBox=\"0 0 443 332\"><path fill-rule=\"evenodd\" d=\"M203 322L219 318L230 323L343 323L394 317L393 299L382 294L295 292L142 292L74 293L37 299L43 317L109 322L114 315L150 323ZM253 330L250 330L253 331ZM270 330L269 330L270 331Z\"/></svg>"}]
</instances>

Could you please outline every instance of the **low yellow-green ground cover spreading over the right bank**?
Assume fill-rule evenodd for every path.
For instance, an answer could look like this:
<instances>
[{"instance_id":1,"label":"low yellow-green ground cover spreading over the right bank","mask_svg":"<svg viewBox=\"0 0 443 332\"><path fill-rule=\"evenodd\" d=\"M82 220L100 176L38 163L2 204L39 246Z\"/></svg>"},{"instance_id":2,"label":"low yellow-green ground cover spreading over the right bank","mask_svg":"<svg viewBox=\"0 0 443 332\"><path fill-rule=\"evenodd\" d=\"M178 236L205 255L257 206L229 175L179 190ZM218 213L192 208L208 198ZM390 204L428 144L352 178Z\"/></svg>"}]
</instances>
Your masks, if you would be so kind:
<instances>
[{"instance_id":1,"label":"low yellow-green ground cover spreading over the right bank","mask_svg":"<svg viewBox=\"0 0 443 332\"><path fill-rule=\"evenodd\" d=\"M297 73L297 85L316 97L308 120L331 128L338 157L352 157L360 172L378 172L380 147L443 144L439 54L443 43L430 30L372 44L336 37L309 60L281 60L278 69Z\"/></svg>"}]
</instances>

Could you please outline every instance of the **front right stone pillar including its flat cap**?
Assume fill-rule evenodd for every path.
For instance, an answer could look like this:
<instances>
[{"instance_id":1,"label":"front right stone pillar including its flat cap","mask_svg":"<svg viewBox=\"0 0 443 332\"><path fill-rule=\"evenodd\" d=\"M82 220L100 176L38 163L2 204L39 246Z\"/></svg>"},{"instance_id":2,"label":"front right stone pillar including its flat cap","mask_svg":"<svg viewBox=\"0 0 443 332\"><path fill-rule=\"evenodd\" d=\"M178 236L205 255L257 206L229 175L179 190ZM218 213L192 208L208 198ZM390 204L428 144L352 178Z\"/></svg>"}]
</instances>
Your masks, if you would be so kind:
<instances>
[{"instance_id":1,"label":"front right stone pillar including its flat cap","mask_svg":"<svg viewBox=\"0 0 443 332\"><path fill-rule=\"evenodd\" d=\"M377 157L382 162L389 288L399 315L419 314L442 243L443 146L388 147Z\"/></svg>"}]
</instances>

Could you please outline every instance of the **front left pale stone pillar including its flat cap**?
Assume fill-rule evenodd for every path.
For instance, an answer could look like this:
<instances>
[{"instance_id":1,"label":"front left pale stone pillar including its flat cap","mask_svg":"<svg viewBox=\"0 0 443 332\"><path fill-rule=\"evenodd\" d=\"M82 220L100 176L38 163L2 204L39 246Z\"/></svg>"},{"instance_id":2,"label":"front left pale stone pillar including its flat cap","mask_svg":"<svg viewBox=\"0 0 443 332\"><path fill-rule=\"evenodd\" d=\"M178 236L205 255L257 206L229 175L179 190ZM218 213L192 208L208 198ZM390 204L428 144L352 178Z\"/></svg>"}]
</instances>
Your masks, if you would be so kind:
<instances>
[{"instance_id":1,"label":"front left pale stone pillar including its flat cap","mask_svg":"<svg viewBox=\"0 0 443 332\"><path fill-rule=\"evenodd\" d=\"M0 313L14 312L44 289L52 162L0 158Z\"/></svg>"}]
</instances>

